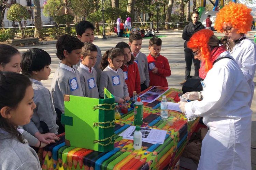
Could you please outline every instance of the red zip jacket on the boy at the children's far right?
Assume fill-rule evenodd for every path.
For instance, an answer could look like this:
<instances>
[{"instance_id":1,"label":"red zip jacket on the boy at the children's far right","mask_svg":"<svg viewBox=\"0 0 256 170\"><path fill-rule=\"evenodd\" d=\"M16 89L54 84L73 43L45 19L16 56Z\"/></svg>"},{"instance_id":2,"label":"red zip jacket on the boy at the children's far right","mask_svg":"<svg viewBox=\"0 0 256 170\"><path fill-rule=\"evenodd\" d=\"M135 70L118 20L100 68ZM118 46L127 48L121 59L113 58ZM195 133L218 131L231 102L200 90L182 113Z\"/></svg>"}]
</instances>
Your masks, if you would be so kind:
<instances>
[{"instance_id":1,"label":"red zip jacket on the boy at the children's far right","mask_svg":"<svg viewBox=\"0 0 256 170\"><path fill-rule=\"evenodd\" d=\"M151 54L147 56L148 72L150 74L149 86L168 87L166 77L171 75L171 69L166 57L159 54L158 57L152 57ZM158 68L158 73L153 74L152 69Z\"/></svg>"}]
</instances>

